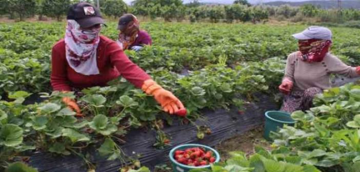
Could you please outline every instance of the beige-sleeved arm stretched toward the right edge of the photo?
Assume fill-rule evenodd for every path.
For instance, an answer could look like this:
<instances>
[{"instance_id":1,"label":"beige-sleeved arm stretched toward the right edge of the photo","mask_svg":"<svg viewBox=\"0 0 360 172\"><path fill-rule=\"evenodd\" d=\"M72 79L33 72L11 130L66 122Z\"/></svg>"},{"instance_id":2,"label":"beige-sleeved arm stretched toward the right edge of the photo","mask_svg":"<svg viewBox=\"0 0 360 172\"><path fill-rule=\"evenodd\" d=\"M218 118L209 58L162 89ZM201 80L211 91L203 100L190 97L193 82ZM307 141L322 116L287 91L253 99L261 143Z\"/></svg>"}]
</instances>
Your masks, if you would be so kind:
<instances>
[{"instance_id":1,"label":"beige-sleeved arm stretched toward the right edge of the photo","mask_svg":"<svg viewBox=\"0 0 360 172\"><path fill-rule=\"evenodd\" d=\"M325 63L324 66L327 67L330 73L343 75L349 78L360 76L360 67L348 66L334 55L328 57L330 60L328 60L329 62Z\"/></svg>"}]
</instances>

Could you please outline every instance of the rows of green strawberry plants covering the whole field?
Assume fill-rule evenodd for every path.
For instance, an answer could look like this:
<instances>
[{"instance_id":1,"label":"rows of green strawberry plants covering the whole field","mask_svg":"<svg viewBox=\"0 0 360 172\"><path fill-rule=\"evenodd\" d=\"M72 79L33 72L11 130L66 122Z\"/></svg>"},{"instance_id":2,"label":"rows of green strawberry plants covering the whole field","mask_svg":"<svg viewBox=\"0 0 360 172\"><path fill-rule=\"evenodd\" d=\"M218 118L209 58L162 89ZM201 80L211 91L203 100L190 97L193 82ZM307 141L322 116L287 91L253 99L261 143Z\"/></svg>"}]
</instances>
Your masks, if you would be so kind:
<instances>
[{"instance_id":1,"label":"rows of green strawberry plants covering the whole field","mask_svg":"<svg viewBox=\"0 0 360 172\"><path fill-rule=\"evenodd\" d=\"M116 25L108 23L101 33L115 40ZM307 26L148 22L141 27L152 36L153 46L126 54L182 100L188 110L182 123L196 125L204 109L237 107L242 112L244 104L257 101L257 94L278 99L286 57L297 49L291 34ZM359 30L330 29L332 53L348 65L359 65ZM0 165L6 168L39 150L81 156L91 169L93 164L83 155L90 145L108 160L125 164L132 159L123 154L121 143L133 128L155 130L152 144L158 149L170 146L171 138L162 128L175 117L124 79L82 93L51 92L51 48L64 33L65 23L0 24ZM38 95L46 100L34 102ZM74 117L61 101L64 96L77 98L84 118ZM226 163L207 171L356 171L359 101L356 83L327 91L307 113L292 114L297 124L274 134L271 151L255 147L252 155L231 153L223 159ZM207 137L208 128L197 128L199 139Z\"/></svg>"}]
</instances>

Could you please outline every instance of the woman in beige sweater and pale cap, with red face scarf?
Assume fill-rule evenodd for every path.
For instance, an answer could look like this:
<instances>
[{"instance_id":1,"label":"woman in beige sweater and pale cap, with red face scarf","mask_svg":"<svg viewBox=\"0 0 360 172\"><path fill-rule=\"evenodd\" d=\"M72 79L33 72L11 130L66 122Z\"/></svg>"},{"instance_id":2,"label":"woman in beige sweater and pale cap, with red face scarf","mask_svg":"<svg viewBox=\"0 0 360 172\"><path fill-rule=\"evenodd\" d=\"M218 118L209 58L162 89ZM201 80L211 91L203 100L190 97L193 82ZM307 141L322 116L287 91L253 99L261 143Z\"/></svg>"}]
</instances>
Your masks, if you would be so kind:
<instances>
[{"instance_id":1,"label":"woman in beige sweater and pale cap, with red face scarf","mask_svg":"<svg viewBox=\"0 0 360 172\"><path fill-rule=\"evenodd\" d=\"M281 111L309 110L314 96L331 87L330 74L360 76L360 67L347 66L329 53L332 43L329 29L311 26L292 36L298 39L299 51L291 53L286 62L285 76L279 86L285 94Z\"/></svg>"}]
</instances>

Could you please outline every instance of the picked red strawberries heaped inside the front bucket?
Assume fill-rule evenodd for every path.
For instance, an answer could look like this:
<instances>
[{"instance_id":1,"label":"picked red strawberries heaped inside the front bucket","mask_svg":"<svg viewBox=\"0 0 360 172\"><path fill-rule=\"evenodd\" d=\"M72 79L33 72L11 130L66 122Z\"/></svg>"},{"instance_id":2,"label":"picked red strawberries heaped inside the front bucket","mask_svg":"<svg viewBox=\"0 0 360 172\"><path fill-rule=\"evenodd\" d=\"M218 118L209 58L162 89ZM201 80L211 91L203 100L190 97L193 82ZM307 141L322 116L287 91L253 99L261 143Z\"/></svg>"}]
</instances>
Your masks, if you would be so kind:
<instances>
[{"instance_id":1,"label":"picked red strawberries heaped inside the front bucket","mask_svg":"<svg viewBox=\"0 0 360 172\"><path fill-rule=\"evenodd\" d=\"M185 150L176 150L174 155L178 163L189 166L204 166L215 162L212 151L205 151L203 147L192 147Z\"/></svg>"}]
</instances>

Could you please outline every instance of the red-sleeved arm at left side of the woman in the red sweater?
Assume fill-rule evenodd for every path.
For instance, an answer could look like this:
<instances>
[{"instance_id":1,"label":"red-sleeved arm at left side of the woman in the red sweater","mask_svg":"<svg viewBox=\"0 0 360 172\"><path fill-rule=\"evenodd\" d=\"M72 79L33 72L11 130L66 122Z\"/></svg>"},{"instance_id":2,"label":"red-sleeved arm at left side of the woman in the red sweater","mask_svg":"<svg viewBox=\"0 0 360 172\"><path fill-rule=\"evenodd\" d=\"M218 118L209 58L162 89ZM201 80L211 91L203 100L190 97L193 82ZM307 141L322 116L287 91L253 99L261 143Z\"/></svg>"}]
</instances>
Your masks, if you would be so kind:
<instances>
[{"instance_id":1,"label":"red-sleeved arm at left side of the woman in the red sweater","mask_svg":"<svg viewBox=\"0 0 360 172\"><path fill-rule=\"evenodd\" d=\"M55 45L51 51L51 86L56 91L71 91L66 71L65 52L61 53L59 45Z\"/></svg>"}]
</instances>

